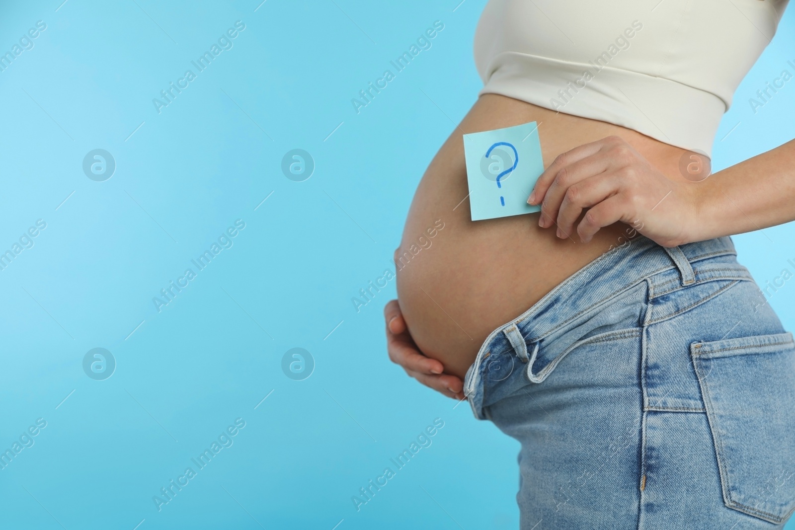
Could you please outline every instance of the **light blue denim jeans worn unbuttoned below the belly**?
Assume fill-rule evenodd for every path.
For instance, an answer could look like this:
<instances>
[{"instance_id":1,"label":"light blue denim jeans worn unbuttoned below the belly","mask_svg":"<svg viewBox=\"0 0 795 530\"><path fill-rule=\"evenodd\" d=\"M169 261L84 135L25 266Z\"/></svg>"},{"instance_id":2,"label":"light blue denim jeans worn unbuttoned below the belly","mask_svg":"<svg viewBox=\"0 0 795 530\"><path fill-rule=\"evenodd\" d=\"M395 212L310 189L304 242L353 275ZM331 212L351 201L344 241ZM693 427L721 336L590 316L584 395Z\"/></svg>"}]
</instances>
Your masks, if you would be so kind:
<instances>
[{"instance_id":1,"label":"light blue denim jeans worn unbuttoned below the belly","mask_svg":"<svg viewBox=\"0 0 795 530\"><path fill-rule=\"evenodd\" d=\"M639 236L492 332L464 392L522 443L522 528L782 528L793 355L730 238Z\"/></svg>"}]
</instances>

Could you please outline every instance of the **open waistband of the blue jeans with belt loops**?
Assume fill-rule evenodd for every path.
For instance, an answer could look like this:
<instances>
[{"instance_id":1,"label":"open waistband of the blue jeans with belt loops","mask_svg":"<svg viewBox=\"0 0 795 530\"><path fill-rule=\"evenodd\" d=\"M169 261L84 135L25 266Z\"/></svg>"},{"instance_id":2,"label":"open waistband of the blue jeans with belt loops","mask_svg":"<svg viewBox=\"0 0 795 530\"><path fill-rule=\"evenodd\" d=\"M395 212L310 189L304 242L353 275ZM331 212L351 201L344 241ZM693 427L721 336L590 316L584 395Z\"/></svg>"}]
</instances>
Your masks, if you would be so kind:
<instances>
[{"instance_id":1,"label":"open waistband of the blue jeans with belt loops","mask_svg":"<svg viewBox=\"0 0 795 530\"><path fill-rule=\"evenodd\" d=\"M732 258L705 261L720 256ZM638 236L624 246L604 253L553 288L517 319L492 331L483 342L475 362L467 370L463 385L475 416L482 417L479 408L483 396L476 391L481 382L484 359L495 348L512 348L532 368L541 339L567 326L576 325L575 321L580 315L615 299L619 293L643 280L653 277L650 281L650 297L718 277L751 280L750 273L735 261L735 256L735 246L729 237L666 248L649 238ZM704 262L699 264L699 261ZM543 381L556 363L550 363L537 374L528 369L529 380L536 383Z\"/></svg>"}]
</instances>

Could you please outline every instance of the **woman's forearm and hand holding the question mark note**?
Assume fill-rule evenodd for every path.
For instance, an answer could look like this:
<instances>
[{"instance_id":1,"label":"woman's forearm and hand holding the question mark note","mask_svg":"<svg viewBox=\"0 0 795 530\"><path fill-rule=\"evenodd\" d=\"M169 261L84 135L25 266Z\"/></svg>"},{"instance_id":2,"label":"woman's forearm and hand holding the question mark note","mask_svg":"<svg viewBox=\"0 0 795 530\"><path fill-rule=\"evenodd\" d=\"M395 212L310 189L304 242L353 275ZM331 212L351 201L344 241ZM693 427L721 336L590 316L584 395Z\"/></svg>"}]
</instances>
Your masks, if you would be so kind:
<instances>
[{"instance_id":1,"label":"woman's forearm and hand holding the question mark note","mask_svg":"<svg viewBox=\"0 0 795 530\"><path fill-rule=\"evenodd\" d=\"M540 226L556 225L560 238L576 230L583 242L618 221L662 246L759 230L795 220L795 141L688 182L607 137L557 157L528 203L541 203Z\"/></svg>"}]
</instances>

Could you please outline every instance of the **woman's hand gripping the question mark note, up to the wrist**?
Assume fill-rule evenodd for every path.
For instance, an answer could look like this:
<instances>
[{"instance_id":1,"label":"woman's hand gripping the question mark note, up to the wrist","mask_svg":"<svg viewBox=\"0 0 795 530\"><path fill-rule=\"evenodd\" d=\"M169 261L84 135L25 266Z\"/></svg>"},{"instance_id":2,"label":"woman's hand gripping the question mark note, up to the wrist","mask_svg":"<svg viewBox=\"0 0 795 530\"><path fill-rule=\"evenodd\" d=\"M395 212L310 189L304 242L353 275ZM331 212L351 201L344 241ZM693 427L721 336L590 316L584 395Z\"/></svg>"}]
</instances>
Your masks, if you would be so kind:
<instances>
[{"instance_id":1,"label":"woman's hand gripping the question mark note, up to the wrist","mask_svg":"<svg viewBox=\"0 0 795 530\"><path fill-rule=\"evenodd\" d=\"M610 136L561 154L538 177L527 202L541 203L541 227L580 241L621 221L662 246L689 242L697 218L693 184L670 180L622 138Z\"/></svg>"}]
</instances>

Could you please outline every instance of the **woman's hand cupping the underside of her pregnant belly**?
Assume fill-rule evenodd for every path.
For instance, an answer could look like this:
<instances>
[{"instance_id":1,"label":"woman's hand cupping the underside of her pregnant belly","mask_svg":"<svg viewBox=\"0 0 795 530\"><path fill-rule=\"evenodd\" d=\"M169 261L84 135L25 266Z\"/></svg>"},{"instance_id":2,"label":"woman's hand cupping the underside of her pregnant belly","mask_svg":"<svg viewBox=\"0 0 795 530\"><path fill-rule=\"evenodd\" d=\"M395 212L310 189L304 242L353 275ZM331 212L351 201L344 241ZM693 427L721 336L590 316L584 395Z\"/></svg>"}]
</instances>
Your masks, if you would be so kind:
<instances>
[{"instance_id":1,"label":"woman's hand cupping the underside of her pregnant belly","mask_svg":"<svg viewBox=\"0 0 795 530\"><path fill-rule=\"evenodd\" d=\"M384 308L386 318L386 350L392 362L405 369L405 373L423 385L443 393L447 397L463 400L463 381L444 372L444 366L436 359L425 357L414 344L397 300L391 300Z\"/></svg>"}]
</instances>

